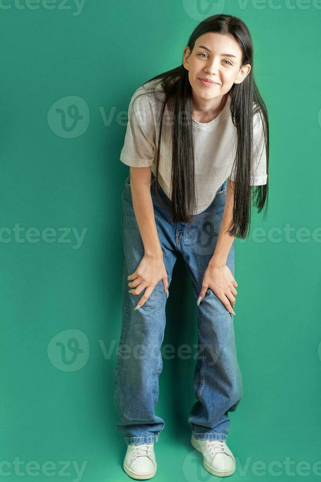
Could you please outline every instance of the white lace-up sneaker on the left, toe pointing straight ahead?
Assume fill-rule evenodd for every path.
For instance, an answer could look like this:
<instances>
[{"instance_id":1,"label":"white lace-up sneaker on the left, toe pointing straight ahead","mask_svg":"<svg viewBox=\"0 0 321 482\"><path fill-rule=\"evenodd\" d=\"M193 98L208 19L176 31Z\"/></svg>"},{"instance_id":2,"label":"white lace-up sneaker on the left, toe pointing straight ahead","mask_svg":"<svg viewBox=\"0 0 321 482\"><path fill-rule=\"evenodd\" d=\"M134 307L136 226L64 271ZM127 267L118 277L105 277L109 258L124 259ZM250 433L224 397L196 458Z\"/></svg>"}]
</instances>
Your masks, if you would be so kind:
<instances>
[{"instance_id":1,"label":"white lace-up sneaker on the left, toe pointing straight ahead","mask_svg":"<svg viewBox=\"0 0 321 482\"><path fill-rule=\"evenodd\" d=\"M157 463L154 444L128 445L123 464L127 475L137 480L154 477Z\"/></svg>"}]
</instances>

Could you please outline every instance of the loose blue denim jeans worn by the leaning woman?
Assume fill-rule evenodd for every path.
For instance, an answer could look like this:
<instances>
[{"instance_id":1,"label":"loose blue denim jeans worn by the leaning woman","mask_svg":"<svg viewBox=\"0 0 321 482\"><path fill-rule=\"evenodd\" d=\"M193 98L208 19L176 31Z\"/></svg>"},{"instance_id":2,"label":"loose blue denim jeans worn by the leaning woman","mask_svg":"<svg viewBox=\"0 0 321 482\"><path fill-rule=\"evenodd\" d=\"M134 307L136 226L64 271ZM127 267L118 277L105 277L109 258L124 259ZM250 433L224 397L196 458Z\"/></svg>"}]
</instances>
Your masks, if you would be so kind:
<instances>
[{"instance_id":1,"label":"loose blue denim jeans worn by the leaning woman","mask_svg":"<svg viewBox=\"0 0 321 482\"><path fill-rule=\"evenodd\" d=\"M196 300L201 291L205 270L213 256L226 200L227 180L219 188L212 204L196 214L190 223L173 223L170 200L159 187L164 206L156 197L155 176L151 174L151 196L163 262L170 285L178 253L181 253L192 282ZM162 370L161 345L165 329L166 293L160 280L143 306L134 310L143 296L128 292L127 276L132 274L142 257L144 245L134 215L130 174L122 192L122 239L124 248L122 328L114 370L114 402L120 414L116 424L129 444L155 443L164 421L155 415ZM234 275L234 242L227 266ZM241 401L242 380L237 360L233 315L208 289L197 309L198 355L194 373L197 401L188 418L196 439L226 440L230 420Z\"/></svg>"}]
</instances>

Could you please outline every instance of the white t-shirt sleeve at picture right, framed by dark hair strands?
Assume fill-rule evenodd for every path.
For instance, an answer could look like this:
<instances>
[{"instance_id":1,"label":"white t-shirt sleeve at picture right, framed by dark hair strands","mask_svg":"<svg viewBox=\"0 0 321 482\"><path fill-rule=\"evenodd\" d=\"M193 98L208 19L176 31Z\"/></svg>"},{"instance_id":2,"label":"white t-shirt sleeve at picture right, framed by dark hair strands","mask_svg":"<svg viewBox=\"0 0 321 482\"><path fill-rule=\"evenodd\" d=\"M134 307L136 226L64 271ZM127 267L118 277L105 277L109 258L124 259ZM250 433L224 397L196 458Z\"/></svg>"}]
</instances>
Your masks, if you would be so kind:
<instances>
[{"instance_id":1,"label":"white t-shirt sleeve at picture right, framed by dark hair strands","mask_svg":"<svg viewBox=\"0 0 321 482\"><path fill-rule=\"evenodd\" d=\"M259 111L253 115L253 169L251 186L261 186L267 183L267 152L264 138L263 123ZM236 180L235 165L232 169L230 180Z\"/></svg>"}]
</instances>

